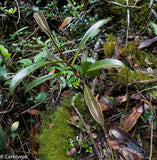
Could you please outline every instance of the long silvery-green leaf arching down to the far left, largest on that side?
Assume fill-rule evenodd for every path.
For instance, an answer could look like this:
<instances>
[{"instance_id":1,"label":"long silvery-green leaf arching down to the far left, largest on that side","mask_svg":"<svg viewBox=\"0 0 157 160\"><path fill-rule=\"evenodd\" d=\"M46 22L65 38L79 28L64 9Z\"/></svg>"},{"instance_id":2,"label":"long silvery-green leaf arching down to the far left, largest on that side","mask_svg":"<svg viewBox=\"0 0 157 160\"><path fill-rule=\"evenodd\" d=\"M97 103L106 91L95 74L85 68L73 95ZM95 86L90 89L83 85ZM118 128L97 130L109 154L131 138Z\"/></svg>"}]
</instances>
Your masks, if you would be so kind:
<instances>
[{"instance_id":1,"label":"long silvery-green leaf arching down to the far left, largest on that side","mask_svg":"<svg viewBox=\"0 0 157 160\"><path fill-rule=\"evenodd\" d=\"M35 63L31 66L28 66L24 69L22 69L20 72L18 72L15 77L11 80L10 82L10 86L9 86L9 93L12 95L15 88L17 87L17 85L26 77L28 76L31 72L47 66L49 64L55 64L55 63L63 63L64 61L51 61L51 62L39 62L39 63Z\"/></svg>"}]
</instances>

